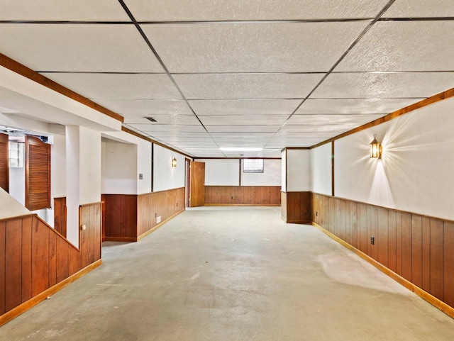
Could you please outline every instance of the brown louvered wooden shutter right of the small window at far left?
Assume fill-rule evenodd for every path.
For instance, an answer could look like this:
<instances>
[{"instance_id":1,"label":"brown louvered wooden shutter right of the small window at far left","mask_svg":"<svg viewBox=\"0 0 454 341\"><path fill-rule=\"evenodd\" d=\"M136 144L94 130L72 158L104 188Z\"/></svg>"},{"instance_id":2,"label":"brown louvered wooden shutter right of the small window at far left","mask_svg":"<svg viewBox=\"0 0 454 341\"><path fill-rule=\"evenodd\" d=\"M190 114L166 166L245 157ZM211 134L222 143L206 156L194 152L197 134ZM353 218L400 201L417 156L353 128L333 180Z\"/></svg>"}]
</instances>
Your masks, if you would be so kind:
<instances>
[{"instance_id":1,"label":"brown louvered wooden shutter right of the small window at far left","mask_svg":"<svg viewBox=\"0 0 454 341\"><path fill-rule=\"evenodd\" d=\"M50 145L26 136L26 208L50 208Z\"/></svg>"}]
</instances>

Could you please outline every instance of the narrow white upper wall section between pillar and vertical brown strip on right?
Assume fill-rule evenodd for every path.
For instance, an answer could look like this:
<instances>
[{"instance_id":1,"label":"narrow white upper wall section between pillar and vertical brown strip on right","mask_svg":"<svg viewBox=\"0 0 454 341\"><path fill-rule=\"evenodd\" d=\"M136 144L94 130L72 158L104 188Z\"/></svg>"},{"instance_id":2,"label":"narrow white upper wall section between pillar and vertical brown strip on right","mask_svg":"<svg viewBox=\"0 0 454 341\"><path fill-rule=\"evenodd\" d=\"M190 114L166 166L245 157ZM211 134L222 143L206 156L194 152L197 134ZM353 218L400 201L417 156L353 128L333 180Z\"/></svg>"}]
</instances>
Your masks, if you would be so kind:
<instances>
[{"instance_id":1,"label":"narrow white upper wall section between pillar and vertical brown strip on right","mask_svg":"<svg viewBox=\"0 0 454 341\"><path fill-rule=\"evenodd\" d=\"M331 196L331 143L310 150L311 191Z\"/></svg>"}]
</instances>

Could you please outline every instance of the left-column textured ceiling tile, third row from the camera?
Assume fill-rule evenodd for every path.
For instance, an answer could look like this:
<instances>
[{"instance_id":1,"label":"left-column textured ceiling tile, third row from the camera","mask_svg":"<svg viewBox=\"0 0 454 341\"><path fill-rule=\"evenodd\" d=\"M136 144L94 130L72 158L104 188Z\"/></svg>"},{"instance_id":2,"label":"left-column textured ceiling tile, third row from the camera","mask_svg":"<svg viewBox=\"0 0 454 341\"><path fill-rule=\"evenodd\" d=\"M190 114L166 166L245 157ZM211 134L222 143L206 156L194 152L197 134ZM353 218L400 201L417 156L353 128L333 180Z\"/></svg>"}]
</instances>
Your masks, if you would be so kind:
<instances>
[{"instance_id":1,"label":"left-column textured ceiling tile, third row from the camera","mask_svg":"<svg viewBox=\"0 0 454 341\"><path fill-rule=\"evenodd\" d=\"M43 73L90 99L180 99L167 74L65 74ZM99 101L101 104L101 101Z\"/></svg>"}]
</instances>

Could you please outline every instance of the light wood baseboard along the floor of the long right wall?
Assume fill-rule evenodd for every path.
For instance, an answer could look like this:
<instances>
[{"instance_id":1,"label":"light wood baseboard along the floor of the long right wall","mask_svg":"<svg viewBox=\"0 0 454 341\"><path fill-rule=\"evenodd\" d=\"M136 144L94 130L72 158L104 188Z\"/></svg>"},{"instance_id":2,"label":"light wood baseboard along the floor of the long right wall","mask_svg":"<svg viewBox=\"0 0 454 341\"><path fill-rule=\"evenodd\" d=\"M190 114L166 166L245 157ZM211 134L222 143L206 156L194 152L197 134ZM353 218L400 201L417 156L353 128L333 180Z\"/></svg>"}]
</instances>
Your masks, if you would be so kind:
<instances>
[{"instance_id":1,"label":"light wood baseboard along the floor of the long right wall","mask_svg":"<svg viewBox=\"0 0 454 341\"><path fill-rule=\"evenodd\" d=\"M314 222L311 222L311 224L314 225L315 228L321 230L321 232L323 232L326 235L328 235L328 237L331 237L333 240L336 240L336 242L341 244L343 247L346 247L348 250L350 250L352 252L355 252L356 255L360 256L366 262L369 262L370 264L372 264L374 267L379 269L381 272L383 272L387 276L389 276L392 279L394 279L394 281L397 281L397 283L399 283L402 286L404 286L406 289L409 289L410 291L413 291L414 294L416 294L419 297L423 298L423 300L427 301L428 303L431 303L432 306L434 306L434 307L438 308L439 310L443 311L443 313L445 313L446 315L450 316L451 318L454 318L454 308L453 307L448 306L448 304L446 304L443 301L439 300L435 296L432 296L427 291L423 291L423 289L419 288L419 286L416 286L413 283L411 283L411 281L408 281L407 279L404 279L404 277L402 277L399 274L396 274L392 270L388 269L383 264L377 262L372 257L370 257L370 256L366 255L364 252L358 250L353 245L348 244L348 242L345 242L345 240L342 240L341 238L337 237L336 235L333 235L333 233L329 232L328 230L325 230L320 225L318 225L318 224L316 224Z\"/></svg>"}]
</instances>

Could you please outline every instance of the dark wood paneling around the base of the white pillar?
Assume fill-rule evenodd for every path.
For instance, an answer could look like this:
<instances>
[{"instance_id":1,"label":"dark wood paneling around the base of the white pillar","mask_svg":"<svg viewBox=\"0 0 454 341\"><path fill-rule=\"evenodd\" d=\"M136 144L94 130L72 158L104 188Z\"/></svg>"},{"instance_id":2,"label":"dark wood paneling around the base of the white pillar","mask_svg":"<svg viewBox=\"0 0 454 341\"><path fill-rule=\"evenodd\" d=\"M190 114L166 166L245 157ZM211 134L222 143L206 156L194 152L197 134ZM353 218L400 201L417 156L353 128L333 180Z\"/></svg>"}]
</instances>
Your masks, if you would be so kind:
<instances>
[{"instance_id":1,"label":"dark wood paneling around the base of the white pillar","mask_svg":"<svg viewBox=\"0 0 454 341\"><path fill-rule=\"evenodd\" d=\"M286 223L311 223L311 192L281 192L281 217Z\"/></svg>"}]
</instances>

